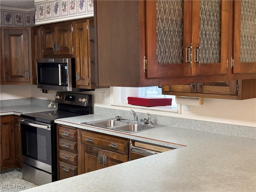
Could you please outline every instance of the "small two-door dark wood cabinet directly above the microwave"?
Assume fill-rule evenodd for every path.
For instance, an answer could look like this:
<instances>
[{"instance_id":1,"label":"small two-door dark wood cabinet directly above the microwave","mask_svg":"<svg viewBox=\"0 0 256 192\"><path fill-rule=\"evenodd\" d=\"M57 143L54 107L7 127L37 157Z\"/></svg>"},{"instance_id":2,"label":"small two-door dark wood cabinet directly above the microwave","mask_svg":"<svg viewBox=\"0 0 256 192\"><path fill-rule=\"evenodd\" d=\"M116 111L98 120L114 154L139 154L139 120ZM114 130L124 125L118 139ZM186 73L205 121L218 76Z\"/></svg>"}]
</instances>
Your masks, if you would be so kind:
<instances>
[{"instance_id":1,"label":"small two-door dark wood cabinet directly above the microwave","mask_svg":"<svg viewBox=\"0 0 256 192\"><path fill-rule=\"evenodd\" d=\"M73 54L72 22L41 26L41 44L44 57Z\"/></svg>"}]
</instances>

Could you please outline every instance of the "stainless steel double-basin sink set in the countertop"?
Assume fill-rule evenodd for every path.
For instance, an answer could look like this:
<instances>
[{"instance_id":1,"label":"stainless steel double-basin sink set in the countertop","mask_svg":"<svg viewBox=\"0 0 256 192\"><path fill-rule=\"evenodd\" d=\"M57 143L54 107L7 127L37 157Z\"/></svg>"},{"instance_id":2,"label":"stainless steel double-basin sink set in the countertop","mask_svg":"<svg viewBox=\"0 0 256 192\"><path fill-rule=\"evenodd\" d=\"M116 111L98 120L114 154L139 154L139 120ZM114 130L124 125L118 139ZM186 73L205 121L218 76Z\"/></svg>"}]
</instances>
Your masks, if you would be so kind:
<instances>
[{"instance_id":1,"label":"stainless steel double-basin sink set in the countertop","mask_svg":"<svg viewBox=\"0 0 256 192\"><path fill-rule=\"evenodd\" d=\"M108 120L99 120L99 121L92 121L92 122L82 122L81 124L92 125L100 128L106 128L111 130L117 130L121 132L128 132L128 133L136 133L142 132L146 130L152 130L154 128L164 127L163 125L158 124L144 124L141 122L134 122L132 120L116 120L116 119L108 119Z\"/></svg>"}]
</instances>

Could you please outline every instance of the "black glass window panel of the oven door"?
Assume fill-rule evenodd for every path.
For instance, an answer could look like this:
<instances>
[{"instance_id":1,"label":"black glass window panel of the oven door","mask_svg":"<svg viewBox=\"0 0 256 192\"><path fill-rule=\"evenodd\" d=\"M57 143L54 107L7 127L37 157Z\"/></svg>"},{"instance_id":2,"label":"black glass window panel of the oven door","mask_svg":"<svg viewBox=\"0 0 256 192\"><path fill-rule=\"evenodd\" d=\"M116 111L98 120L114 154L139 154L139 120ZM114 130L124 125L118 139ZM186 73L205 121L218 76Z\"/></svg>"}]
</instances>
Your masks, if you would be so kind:
<instances>
[{"instance_id":1,"label":"black glass window panel of the oven door","mask_svg":"<svg viewBox=\"0 0 256 192\"><path fill-rule=\"evenodd\" d=\"M51 165L51 131L24 124L21 126L22 155Z\"/></svg>"}]
</instances>

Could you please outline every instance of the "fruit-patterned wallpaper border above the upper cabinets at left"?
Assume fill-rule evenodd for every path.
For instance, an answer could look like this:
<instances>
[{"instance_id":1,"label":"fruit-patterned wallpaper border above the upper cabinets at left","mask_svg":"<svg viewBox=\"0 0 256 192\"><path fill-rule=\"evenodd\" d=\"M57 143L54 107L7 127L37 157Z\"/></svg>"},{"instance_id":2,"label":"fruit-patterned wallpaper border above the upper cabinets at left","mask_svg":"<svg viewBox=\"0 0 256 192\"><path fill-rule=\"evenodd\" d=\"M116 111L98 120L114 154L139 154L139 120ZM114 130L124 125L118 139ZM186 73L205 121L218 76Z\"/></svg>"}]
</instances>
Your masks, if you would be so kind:
<instances>
[{"instance_id":1,"label":"fruit-patterned wallpaper border above the upper cabinets at left","mask_svg":"<svg viewBox=\"0 0 256 192\"><path fill-rule=\"evenodd\" d=\"M46 0L30 12L0 10L0 26L35 26L93 16L94 0Z\"/></svg>"}]
</instances>

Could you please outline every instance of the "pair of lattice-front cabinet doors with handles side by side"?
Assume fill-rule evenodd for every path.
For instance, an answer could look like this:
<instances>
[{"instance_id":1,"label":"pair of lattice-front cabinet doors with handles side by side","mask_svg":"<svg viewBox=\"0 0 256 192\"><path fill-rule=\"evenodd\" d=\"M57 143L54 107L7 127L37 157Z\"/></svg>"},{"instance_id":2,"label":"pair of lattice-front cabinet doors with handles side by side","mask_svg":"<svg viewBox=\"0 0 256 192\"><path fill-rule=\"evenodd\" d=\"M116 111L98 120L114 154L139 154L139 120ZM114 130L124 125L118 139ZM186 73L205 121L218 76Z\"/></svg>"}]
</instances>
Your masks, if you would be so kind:
<instances>
[{"instance_id":1,"label":"pair of lattice-front cabinet doors with handles side by side","mask_svg":"<svg viewBox=\"0 0 256 192\"><path fill-rule=\"evenodd\" d=\"M147 77L226 74L230 10L229 1L146 1Z\"/></svg>"}]
</instances>

